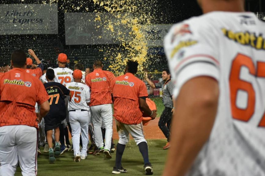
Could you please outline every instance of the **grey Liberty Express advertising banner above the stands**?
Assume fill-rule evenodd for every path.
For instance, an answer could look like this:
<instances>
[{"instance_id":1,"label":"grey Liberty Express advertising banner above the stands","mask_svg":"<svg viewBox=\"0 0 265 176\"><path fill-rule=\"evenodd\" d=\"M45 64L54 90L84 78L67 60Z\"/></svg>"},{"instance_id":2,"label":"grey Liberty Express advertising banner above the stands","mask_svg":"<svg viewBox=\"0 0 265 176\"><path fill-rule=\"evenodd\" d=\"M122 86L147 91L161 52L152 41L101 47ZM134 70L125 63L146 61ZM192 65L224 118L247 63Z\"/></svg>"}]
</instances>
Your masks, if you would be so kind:
<instances>
[{"instance_id":1,"label":"grey Liberty Express advertising banner above the stands","mask_svg":"<svg viewBox=\"0 0 265 176\"><path fill-rule=\"evenodd\" d=\"M58 34L57 4L1 4L0 35Z\"/></svg>"}]
</instances>

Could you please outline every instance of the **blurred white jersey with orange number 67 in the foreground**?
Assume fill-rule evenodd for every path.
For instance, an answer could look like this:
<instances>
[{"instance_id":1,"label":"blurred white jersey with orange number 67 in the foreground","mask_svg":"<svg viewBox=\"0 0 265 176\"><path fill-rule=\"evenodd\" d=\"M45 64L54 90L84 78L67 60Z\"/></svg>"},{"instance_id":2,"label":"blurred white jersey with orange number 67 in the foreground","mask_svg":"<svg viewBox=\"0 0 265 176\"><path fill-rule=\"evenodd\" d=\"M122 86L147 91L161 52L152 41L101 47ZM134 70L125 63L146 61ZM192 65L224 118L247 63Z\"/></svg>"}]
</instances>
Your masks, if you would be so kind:
<instances>
[{"instance_id":1,"label":"blurred white jersey with orange number 67 in the foreground","mask_svg":"<svg viewBox=\"0 0 265 176\"><path fill-rule=\"evenodd\" d=\"M174 25L164 45L175 96L197 76L219 82L215 124L187 175L265 176L265 23L210 12Z\"/></svg>"}]
</instances>

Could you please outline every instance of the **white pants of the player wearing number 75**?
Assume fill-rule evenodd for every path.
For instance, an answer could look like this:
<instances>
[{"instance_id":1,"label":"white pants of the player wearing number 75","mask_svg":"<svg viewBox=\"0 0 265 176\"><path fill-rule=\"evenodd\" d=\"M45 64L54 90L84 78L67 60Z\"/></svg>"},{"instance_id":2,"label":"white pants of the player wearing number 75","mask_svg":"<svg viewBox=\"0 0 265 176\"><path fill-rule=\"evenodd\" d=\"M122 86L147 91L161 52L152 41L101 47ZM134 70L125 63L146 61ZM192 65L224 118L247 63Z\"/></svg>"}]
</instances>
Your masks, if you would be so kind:
<instances>
[{"instance_id":1,"label":"white pants of the player wearing number 75","mask_svg":"<svg viewBox=\"0 0 265 176\"><path fill-rule=\"evenodd\" d=\"M82 139L82 150L81 155L87 156L87 146L89 143L88 137L88 126L90 121L90 112L89 111L69 111L69 122L72 128L72 143L74 147L74 156L76 153L80 153L80 133Z\"/></svg>"}]
</instances>

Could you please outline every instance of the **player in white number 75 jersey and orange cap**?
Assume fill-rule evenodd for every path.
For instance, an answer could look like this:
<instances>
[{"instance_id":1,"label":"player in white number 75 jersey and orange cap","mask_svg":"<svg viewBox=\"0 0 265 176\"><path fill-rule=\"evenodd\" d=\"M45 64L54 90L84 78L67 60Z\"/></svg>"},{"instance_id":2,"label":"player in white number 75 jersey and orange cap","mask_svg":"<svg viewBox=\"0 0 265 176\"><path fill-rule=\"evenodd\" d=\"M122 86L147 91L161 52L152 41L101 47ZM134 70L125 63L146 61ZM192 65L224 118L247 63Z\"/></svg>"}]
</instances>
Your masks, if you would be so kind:
<instances>
[{"instance_id":1,"label":"player in white number 75 jersey and orange cap","mask_svg":"<svg viewBox=\"0 0 265 176\"><path fill-rule=\"evenodd\" d=\"M70 90L68 111L69 121L72 128L72 143L74 147L74 161L79 162L80 159L86 159L87 146L89 143L88 126L90 121L90 89L89 86L81 83L82 71L74 70L74 82L68 83L66 88ZM80 132L82 138L82 150L79 150Z\"/></svg>"}]
</instances>

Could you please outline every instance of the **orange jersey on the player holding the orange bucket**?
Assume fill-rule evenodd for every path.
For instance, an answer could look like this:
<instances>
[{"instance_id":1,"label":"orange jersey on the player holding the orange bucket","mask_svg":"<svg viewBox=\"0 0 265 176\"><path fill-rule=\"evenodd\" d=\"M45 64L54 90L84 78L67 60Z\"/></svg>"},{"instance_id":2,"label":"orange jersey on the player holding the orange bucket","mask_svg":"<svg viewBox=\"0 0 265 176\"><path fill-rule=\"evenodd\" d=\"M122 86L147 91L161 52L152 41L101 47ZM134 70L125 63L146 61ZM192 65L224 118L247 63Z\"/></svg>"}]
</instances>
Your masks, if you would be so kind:
<instances>
[{"instance_id":1,"label":"orange jersey on the player holding the orange bucket","mask_svg":"<svg viewBox=\"0 0 265 176\"><path fill-rule=\"evenodd\" d=\"M114 117L129 125L136 125L143 120L139 107L139 97L147 97L145 83L131 73L119 76L111 81L114 98Z\"/></svg>"}]
</instances>

